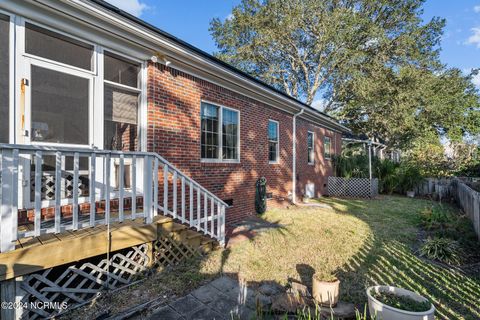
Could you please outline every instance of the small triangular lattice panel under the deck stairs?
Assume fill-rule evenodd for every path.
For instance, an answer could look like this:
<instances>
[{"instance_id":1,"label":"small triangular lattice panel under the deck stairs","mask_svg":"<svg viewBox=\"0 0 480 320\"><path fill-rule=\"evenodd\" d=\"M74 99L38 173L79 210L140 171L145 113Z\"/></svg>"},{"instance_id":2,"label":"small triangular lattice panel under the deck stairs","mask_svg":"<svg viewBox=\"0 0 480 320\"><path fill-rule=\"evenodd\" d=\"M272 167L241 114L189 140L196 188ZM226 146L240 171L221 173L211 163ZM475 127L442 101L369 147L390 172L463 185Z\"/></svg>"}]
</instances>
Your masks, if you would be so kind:
<instances>
[{"instance_id":1,"label":"small triangular lattice panel under the deck stairs","mask_svg":"<svg viewBox=\"0 0 480 320\"><path fill-rule=\"evenodd\" d=\"M176 265L182 261L200 255L200 252L192 246L176 241L168 235L159 237L153 243L156 266Z\"/></svg>"}]
</instances>

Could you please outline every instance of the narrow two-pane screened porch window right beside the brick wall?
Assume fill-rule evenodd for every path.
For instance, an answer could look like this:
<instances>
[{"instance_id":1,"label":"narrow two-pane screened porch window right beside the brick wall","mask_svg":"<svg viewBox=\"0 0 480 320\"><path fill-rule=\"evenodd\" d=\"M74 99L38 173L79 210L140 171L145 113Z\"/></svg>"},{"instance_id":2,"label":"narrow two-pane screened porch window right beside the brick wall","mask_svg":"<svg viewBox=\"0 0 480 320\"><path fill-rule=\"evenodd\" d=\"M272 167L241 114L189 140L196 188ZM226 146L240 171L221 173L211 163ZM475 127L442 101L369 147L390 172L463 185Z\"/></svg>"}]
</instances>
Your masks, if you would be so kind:
<instances>
[{"instance_id":1,"label":"narrow two-pane screened porch window right beside the brick wall","mask_svg":"<svg viewBox=\"0 0 480 320\"><path fill-rule=\"evenodd\" d=\"M138 151L139 63L104 52L104 148Z\"/></svg>"}]
</instances>

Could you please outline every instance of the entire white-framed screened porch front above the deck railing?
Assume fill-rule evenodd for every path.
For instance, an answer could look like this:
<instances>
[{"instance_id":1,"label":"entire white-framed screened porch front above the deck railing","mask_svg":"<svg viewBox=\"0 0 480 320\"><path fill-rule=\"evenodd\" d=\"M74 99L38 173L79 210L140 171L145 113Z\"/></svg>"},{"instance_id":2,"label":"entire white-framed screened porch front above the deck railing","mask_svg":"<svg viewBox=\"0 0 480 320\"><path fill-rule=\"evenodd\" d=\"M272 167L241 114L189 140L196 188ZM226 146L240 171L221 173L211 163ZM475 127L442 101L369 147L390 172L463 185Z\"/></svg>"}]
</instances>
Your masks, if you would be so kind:
<instances>
[{"instance_id":1,"label":"entire white-framed screened porch front above the deck railing","mask_svg":"<svg viewBox=\"0 0 480 320\"><path fill-rule=\"evenodd\" d=\"M4 20L0 15L2 70L3 55L8 54ZM16 17L15 23L23 26L15 29L15 38L20 40L21 54L17 69L26 88L25 110L19 108L17 115L25 123L18 130L24 135L20 141L140 150L140 106L146 89L142 61L22 17ZM8 88L3 85L4 75L0 76L2 118L3 90ZM4 128L0 141L3 130L8 132Z\"/></svg>"}]
</instances>

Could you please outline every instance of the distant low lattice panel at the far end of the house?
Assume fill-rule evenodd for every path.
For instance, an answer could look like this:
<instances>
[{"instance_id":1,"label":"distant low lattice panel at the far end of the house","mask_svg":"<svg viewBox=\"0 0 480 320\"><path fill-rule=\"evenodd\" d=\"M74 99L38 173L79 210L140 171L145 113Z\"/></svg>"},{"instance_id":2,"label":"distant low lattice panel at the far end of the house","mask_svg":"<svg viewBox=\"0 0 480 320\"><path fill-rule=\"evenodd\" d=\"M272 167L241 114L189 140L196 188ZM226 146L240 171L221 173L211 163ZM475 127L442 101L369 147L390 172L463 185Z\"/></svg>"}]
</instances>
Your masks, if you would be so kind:
<instances>
[{"instance_id":1,"label":"distant low lattice panel at the far end of the house","mask_svg":"<svg viewBox=\"0 0 480 320\"><path fill-rule=\"evenodd\" d=\"M378 179L328 177L327 188L334 197L373 198L378 195Z\"/></svg>"}]
</instances>

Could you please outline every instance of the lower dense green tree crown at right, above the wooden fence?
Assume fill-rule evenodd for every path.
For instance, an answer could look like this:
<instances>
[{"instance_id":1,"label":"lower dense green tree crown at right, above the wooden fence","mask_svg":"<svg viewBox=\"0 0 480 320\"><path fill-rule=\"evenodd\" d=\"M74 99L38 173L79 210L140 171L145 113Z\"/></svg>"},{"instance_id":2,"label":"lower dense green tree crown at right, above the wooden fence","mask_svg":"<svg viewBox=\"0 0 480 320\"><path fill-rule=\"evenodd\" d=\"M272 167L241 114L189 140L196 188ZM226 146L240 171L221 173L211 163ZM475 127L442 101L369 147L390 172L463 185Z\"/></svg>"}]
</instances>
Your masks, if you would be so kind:
<instances>
[{"instance_id":1,"label":"lower dense green tree crown at right, above the wooden fence","mask_svg":"<svg viewBox=\"0 0 480 320\"><path fill-rule=\"evenodd\" d=\"M336 113L354 131L403 150L417 140L460 142L480 130L477 90L458 69L383 69L351 77L338 94L344 104Z\"/></svg>"}]
</instances>

